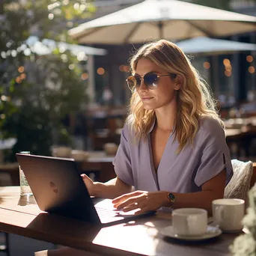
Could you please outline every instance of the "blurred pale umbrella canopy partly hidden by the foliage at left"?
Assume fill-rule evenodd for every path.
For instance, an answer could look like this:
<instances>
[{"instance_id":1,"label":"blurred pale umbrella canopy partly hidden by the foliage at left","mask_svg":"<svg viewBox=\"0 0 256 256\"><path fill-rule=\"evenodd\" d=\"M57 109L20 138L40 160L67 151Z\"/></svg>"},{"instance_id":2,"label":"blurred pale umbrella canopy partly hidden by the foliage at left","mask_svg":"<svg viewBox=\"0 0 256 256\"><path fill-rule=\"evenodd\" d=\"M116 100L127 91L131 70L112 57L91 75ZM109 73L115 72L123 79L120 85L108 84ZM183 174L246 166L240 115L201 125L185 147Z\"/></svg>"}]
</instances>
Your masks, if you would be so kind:
<instances>
[{"instance_id":1,"label":"blurred pale umbrella canopy partly hidden by the foliage at left","mask_svg":"<svg viewBox=\"0 0 256 256\"><path fill-rule=\"evenodd\" d=\"M55 40L43 39L42 42L38 40L37 37L31 36L25 41L25 43L31 47L31 50L37 55L47 55L52 53L57 47L63 52L65 50L70 50L73 55L106 55L106 49L99 49L89 46L79 46L77 44L55 42ZM25 46L25 45L24 45ZM22 46L21 46L22 47Z\"/></svg>"}]
</instances>

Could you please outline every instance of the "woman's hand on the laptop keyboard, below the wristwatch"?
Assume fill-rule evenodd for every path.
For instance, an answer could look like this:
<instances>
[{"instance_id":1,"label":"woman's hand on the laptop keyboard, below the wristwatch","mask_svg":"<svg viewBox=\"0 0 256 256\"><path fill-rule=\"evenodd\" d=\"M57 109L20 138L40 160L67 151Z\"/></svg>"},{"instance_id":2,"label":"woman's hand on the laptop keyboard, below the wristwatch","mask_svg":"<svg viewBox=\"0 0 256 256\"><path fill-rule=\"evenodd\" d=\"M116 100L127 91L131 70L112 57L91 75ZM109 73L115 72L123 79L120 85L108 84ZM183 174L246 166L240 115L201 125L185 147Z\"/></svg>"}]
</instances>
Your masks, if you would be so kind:
<instances>
[{"instance_id":1,"label":"woman's hand on the laptop keyboard, below the wristwatch","mask_svg":"<svg viewBox=\"0 0 256 256\"><path fill-rule=\"evenodd\" d=\"M129 212L138 209L135 214L141 214L165 206L168 202L167 193L165 191L147 192L138 190L121 195L113 199L112 203L117 210Z\"/></svg>"}]
</instances>

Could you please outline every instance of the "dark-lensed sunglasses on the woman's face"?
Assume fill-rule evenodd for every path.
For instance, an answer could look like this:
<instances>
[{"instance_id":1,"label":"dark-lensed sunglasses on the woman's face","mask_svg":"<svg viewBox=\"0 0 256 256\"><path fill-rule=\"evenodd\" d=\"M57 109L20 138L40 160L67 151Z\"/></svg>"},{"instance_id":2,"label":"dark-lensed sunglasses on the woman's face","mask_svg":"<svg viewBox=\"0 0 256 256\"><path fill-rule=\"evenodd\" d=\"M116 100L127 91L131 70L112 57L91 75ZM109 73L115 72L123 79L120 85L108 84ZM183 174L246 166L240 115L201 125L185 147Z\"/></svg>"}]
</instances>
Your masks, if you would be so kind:
<instances>
[{"instance_id":1,"label":"dark-lensed sunglasses on the woman's face","mask_svg":"<svg viewBox=\"0 0 256 256\"><path fill-rule=\"evenodd\" d=\"M175 77L176 74L168 74L168 75L157 75L156 73L147 73L144 76L128 76L127 77L127 85L129 90L131 91L138 91L141 86L141 80L143 79L144 85L150 90L155 90L157 88L157 84L159 82L159 78L162 76L173 76Z\"/></svg>"}]
</instances>

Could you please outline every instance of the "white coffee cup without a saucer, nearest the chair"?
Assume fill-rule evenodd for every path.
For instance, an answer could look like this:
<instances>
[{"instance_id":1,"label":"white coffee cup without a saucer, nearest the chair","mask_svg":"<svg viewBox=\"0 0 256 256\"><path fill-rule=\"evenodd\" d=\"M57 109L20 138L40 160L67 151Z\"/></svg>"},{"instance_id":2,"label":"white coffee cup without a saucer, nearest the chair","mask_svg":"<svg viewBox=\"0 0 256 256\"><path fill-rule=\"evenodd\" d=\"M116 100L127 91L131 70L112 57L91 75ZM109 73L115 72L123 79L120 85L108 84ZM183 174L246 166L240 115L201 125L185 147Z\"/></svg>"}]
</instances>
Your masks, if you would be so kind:
<instances>
[{"instance_id":1,"label":"white coffee cup without a saucer, nearest the chair","mask_svg":"<svg viewBox=\"0 0 256 256\"><path fill-rule=\"evenodd\" d=\"M237 232L243 228L245 214L243 199L223 198L213 201L213 221L225 232Z\"/></svg>"}]
</instances>

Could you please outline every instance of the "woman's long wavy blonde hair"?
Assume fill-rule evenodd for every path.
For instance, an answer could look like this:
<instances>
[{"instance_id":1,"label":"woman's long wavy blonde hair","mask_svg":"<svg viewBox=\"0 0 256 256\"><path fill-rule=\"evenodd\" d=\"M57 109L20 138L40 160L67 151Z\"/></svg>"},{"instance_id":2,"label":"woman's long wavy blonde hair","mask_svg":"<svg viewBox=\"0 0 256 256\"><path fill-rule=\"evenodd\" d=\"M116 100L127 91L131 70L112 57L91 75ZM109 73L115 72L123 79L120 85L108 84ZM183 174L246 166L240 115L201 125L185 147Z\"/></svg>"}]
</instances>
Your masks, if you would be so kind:
<instances>
[{"instance_id":1,"label":"woman's long wavy blonde hair","mask_svg":"<svg viewBox=\"0 0 256 256\"><path fill-rule=\"evenodd\" d=\"M211 95L207 82L186 57L184 52L168 40L147 43L130 59L132 74L135 73L138 60L147 58L168 73L180 75L181 87L176 94L177 116L174 124L174 139L179 142L177 153L193 141L199 129L199 118L210 116L224 127L216 109L216 101ZM145 110L136 91L132 92L129 104L127 124L135 131L135 138L146 139L147 133L155 120L154 110Z\"/></svg>"}]
</instances>

